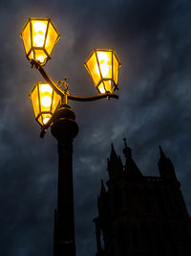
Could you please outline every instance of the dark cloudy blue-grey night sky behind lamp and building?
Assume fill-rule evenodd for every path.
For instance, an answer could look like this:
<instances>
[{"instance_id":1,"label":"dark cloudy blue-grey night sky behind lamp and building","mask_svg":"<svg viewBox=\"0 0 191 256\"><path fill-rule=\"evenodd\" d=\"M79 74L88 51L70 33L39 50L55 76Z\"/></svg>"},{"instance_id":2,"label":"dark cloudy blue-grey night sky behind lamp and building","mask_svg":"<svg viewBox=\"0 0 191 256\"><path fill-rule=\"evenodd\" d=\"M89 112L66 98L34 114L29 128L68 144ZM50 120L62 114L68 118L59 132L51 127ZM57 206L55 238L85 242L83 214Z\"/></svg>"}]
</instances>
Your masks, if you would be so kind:
<instances>
[{"instance_id":1,"label":"dark cloudy blue-grey night sky behind lamp and building","mask_svg":"<svg viewBox=\"0 0 191 256\"><path fill-rule=\"evenodd\" d=\"M96 254L96 196L107 180L111 142L122 156L127 137L142 174L159 175L159 145L174 162L191 213L191 2L189 0L1 1L0 254L52 256L57 150L39 138L28 95L40 74L19 33L28 17L51 17L61 38L46 65L70 92L95 95L84 60L113 48L122 63L119 100L70 105L74 140L77 256ZM122 156L123 157L123 156ZM124 158L123 158L124 161Z\"/></svg>"}]
</instances>

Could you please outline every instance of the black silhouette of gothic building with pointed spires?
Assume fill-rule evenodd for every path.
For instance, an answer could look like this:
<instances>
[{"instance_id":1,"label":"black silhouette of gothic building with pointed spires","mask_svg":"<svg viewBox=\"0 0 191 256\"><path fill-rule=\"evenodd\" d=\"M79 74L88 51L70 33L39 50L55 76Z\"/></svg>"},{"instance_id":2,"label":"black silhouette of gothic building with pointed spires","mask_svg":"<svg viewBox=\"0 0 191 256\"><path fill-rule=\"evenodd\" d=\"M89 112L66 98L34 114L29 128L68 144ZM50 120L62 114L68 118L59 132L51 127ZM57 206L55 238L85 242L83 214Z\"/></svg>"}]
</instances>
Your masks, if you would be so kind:
<instances>
[{"instance_id":1,"label":"black silhouette of gothic building with pointed spires","mask_svg":"<svg viewBox=\"0 0 191 256\"><path fill-rule=\"evenodd\" d=\"M112 145L107 190L101 181L96 256L191 255L191 219L170 158L159 147L160 176L143 176L124 141L125 166Z\"/></svg>"}]
</instances>

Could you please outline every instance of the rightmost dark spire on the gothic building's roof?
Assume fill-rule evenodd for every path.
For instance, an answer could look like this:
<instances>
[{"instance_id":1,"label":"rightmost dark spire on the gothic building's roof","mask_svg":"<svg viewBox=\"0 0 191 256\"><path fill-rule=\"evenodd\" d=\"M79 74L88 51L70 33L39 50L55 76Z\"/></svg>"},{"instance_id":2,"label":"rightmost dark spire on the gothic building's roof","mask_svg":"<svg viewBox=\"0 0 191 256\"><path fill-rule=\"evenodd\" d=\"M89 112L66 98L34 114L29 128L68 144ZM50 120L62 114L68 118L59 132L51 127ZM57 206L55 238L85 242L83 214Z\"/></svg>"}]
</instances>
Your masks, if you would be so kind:
<instances>
[{"instance_id":1,"label":"rightmost dark spire on the gothic building's roof","mask_svg":"<svg viewBox=\"0 0 191 256\"><path fill-rule=\"evenodd\" d=\"M161 147L159 146L159 174L161 177L166 179L176 178L177 176L175 174L175 168L173 163L171 162L171 159L169 157L166 157L165 153L162 151Z\"/></svg>"}]
</instances>

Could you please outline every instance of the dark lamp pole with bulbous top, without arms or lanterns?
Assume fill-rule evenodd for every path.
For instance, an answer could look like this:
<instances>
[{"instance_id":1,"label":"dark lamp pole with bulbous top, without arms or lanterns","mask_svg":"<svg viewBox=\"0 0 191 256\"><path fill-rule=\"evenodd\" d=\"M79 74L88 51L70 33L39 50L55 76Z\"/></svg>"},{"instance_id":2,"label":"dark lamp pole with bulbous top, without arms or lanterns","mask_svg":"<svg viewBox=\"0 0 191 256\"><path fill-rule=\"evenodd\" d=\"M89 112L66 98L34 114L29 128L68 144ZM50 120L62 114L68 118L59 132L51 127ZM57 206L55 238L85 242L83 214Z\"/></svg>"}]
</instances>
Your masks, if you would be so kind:
<instances>
[{"instance_id":1,"label":"dark lamp pole with bulbous top, without arms or lanterns","mask_svg":"<svg viewBox=\"0 0 191 256\"><path fill-rule=\"evenodd\" d=\"M51 128L58 146L57 208L54 212L53 256L74 256L73 139L78 126L69 105L60 105Z\"/></svg>"}]
</instances>

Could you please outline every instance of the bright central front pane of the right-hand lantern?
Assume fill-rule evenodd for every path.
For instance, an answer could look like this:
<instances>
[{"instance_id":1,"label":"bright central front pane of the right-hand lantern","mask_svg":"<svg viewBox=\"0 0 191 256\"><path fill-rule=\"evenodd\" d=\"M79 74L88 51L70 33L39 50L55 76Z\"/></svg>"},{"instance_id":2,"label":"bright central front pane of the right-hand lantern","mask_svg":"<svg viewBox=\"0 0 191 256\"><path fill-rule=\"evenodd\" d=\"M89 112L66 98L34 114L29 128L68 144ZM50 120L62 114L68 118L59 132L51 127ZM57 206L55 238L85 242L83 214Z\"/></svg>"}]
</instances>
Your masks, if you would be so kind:
<instances>
[{"instance_id":1,"label":"bright central front pane of the right-hand lantern","mask_svg":"<svg viewBox=\"0 0 191 256\"><path fill-rule=\"evenodd\" d=\"M112 52L97 51L97 58L103 79L112 79Z\"/></svg>"}]
</instances>

